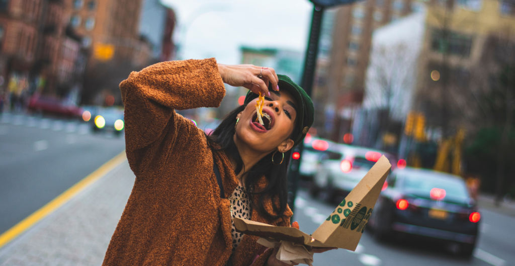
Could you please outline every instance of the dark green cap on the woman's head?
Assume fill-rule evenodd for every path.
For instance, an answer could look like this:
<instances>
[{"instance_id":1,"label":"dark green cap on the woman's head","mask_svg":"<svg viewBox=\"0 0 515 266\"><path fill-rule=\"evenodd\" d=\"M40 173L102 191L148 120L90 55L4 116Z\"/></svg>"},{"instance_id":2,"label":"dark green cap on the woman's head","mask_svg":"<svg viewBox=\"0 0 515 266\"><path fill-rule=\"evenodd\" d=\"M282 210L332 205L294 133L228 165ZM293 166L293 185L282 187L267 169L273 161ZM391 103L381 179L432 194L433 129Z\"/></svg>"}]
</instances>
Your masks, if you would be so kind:
<instances>
[{"instance_id":1,"label":"dark green cap on the woman's head","mask_svg":"<svg viewBox=\"0 0 515 266\"><path fill-rule=\"evenodd\" d=\"M295 142L294 146L300 144L300 142L306 136L307 130L310 129L311 125L313 125L314 112L313 102L307 93L302 89L299 85L295 84L295 82L291 81L291 79L285 75L277 75L279 77L279 90L289 92L297 102L297 108L299 108L299 113L297 114L297 127L300 128L299 135L294 136L293 141ZM272 91L272 89L270 89ZM251 91L247 93L245 97L245 104L250 103L254 98L257 98L258 94L255 94Z\"/></svg>"}]
</instances>

